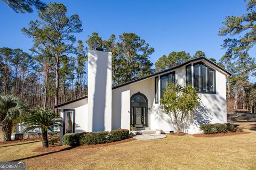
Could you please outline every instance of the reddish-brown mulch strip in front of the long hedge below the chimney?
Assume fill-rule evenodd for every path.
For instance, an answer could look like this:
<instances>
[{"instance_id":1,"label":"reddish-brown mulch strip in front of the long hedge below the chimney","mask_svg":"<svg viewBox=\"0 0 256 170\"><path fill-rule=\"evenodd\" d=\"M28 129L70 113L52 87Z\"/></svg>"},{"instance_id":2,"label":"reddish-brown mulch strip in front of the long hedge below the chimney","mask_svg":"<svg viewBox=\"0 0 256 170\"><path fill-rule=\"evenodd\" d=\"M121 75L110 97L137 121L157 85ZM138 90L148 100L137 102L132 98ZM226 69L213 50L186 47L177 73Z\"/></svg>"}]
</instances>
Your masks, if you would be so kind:
<instances>
[{"instance_id":1,"label":"reddish-brown mulch strip in front of the long hedge below the chimney","mask_svg":"<svg viewBox=\"0 0 256 170\"><path fill-rule=\"evenodd\" d=\"M132 140L136 140L134 138L129 138L117 142L111 142L111 143L103 143L103 144L98 144L98 145L83 145L83 146L78 146L78 147L70 147L67 145L62 145L60 146L60 143L54 143L54 145L49 145L48 148L43 148L43 147L38 147L33 150L33 152L53 152L53 151L60 151L62 149L88 149L88 148L99 148L99 147L106 147L110 145L116 145L119 143L124 143L124 142L130 142Z\"/></svg>"}]
</instances>

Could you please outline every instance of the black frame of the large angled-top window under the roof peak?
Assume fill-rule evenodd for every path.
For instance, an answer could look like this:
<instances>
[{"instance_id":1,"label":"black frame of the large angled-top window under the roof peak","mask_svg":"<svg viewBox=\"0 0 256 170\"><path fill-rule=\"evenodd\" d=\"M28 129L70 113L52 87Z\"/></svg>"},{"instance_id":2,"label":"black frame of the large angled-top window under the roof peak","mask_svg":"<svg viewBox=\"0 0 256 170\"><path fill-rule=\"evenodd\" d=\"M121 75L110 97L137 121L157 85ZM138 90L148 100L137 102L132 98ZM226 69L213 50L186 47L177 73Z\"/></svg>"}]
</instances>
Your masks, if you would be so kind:
<instances>
[{"instance_id":1,"label":"black frame of the large angled-top window under the roof peak","mask_svg":"<svg viewBox=\"0 0 256 170\"><path fill-rule=\"evenodd\" d=\"M199 94L216 94L216 71L215 69L213 69L212 67L210 67L209 65L205 64L204 62L197 62L193 64L193 79L194 79L194 87L196 86L196 81L195 81L195 65L199 64L199 91L197 91ZM207 76L207 82L206 82L206 86L207 86L207 91L203 91L203 81L202 81L202 65L206 66L206 76ZM211 69L213 71L213 91L209 90L209 69Z\"/></svg>"}]
</instances>

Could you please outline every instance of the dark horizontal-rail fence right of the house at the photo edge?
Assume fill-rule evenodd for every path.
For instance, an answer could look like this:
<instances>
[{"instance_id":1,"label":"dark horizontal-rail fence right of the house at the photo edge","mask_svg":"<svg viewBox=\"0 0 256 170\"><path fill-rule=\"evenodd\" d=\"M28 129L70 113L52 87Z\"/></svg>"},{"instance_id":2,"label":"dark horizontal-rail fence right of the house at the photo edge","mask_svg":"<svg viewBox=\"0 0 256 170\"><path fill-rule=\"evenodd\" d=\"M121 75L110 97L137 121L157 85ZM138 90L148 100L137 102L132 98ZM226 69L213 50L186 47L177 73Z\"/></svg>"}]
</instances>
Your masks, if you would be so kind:
<instances>
[{"instance_id":1,"label":"dark horizontal-rail fence right of the house at the photo edge","mask_svg":"<svg viewBox=\"0 0 256 170\"><path fill-rule=\"evenodd\" d=\"M256 122L255 113L227 114L227 122Z\"/></svg>"}]
</instances>

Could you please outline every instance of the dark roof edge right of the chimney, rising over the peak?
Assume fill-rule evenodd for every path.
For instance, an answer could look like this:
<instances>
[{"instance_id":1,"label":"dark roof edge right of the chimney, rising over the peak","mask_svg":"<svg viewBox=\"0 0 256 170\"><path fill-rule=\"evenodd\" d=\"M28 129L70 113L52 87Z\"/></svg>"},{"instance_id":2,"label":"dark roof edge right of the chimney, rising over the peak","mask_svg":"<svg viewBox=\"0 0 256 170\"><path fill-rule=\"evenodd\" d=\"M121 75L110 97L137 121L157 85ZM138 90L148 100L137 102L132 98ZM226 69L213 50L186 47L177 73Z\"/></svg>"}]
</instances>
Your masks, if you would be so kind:
<instances>
[{"instance_id":1,"label":"dark roof edge right of the chimney, rising over the peak","mask_svg":"<svg viewBox=\"0 0 256 170\"><path fill-rule=\"evenodd\" d=\"M195 62L195 61L198 61L198 60L205 60L205 61L211 63L212 65L214 65L215 67L218 67L218 69L222 70L223 72L227 73L227 75L231 75L230 72L228 72L227 70L223 69L221 66L219 66L218 64L212 62L212 61L209 60L208 58L206 58L206 57L198 57L198 58L192 59L192 60L190 60L190 61L188 61L188 62L182 63L182 64L180 64L180 65L178 65L178 66L172 67L172 68L170 68L170 69L166 69L166 70L163 70L163 71L159 71L159 72L157 72L157 73L147 75L146 77L143 77L143 78L139 78L139 79L136 79L136 80L132 80L132 81L123 83L123 84L119 84L119 85L117 85L117 86L112 87L112 90L113 90L113 89L117 89L117 88L119 88L119 87L126 86L126 85L128 85L128 84L131 84L131 83L134 83L134 82L137 82L137 81L141 81L141 80L144 80L144 79L148 79L148 78L151 78L151 77L155 77L155 76L158 75L158 74L162 74L162 73L165 73L165 72L172 71L172 70L174 70L174 69L178 69L179 67L182 67L182 66L184 66L184 65L187 65L187 64L189 64L189 63L192 63L192 62Z\"/></svg>"}]
</instances>

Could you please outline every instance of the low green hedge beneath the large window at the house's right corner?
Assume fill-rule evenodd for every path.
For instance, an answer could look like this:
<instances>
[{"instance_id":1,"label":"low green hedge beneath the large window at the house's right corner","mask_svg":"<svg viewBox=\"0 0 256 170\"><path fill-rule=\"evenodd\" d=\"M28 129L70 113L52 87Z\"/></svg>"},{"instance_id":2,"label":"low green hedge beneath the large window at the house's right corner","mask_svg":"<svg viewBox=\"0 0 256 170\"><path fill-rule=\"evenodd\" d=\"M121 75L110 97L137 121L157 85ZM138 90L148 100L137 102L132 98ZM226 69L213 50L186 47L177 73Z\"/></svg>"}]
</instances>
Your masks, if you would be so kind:
<instances>
[{"instance_id":1,"label":"low green hedge beneath the large window at the house's right corner","mask_svg":"<svg viewBox=\"0 0 256 170\"><path fill-rule=\"evenodd\" d=\"M231 123L201 124L199 129L205 134L236 132L238 130L235 128L235 125Z\"/></svg>"}]
</instances>

